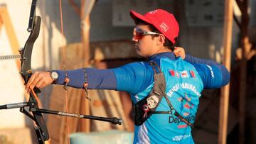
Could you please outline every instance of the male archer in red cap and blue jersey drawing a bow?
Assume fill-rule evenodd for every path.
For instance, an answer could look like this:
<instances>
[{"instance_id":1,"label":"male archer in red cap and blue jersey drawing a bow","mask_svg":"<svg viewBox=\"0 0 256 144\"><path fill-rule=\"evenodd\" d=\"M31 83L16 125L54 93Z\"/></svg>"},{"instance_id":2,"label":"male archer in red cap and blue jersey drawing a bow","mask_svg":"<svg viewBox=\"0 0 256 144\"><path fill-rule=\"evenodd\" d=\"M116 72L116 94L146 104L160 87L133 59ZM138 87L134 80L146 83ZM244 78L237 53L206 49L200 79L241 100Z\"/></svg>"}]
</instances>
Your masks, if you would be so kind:
<instances>
[{"instance_id":1,"label":"male archer in red cap and blue jersey drawing a bow","mask_svg":"<svg viewBox=\"0 0 256 144\"><path fill-rule=\"evenodd\" d=\"M156 9L130 15L136 24L134 48L146 61L106 70L35 72L26 91L67 84L67 78L69 87L125 91L134 104L134 143L194 143L191 130L202 90L228 84L230 72L211 60L175 57L179 26L172 13Z\"/></svg>"}]
</instances>

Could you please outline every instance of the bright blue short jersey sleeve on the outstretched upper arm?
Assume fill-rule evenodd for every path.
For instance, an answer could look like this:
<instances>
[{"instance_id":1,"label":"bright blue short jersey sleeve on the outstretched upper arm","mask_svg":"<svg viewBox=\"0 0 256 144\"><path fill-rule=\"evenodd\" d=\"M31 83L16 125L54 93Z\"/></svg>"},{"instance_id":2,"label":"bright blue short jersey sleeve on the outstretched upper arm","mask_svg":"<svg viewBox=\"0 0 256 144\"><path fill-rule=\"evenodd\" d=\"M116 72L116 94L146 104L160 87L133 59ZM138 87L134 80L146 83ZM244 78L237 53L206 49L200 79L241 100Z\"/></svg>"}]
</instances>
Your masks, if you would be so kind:
<instances>
[{"instance_id":1,"label":"bright blue short jersey sleeve on the outstretched upper arm","mask_svg":"<svg viewBox=\"0 0 256 144\"><path fill-rule=\"evenodd\" d=\"M153 82L153 70L143 62L133 62L113 69L117 90L137 94Z\"/></svg>"}]
</instances>

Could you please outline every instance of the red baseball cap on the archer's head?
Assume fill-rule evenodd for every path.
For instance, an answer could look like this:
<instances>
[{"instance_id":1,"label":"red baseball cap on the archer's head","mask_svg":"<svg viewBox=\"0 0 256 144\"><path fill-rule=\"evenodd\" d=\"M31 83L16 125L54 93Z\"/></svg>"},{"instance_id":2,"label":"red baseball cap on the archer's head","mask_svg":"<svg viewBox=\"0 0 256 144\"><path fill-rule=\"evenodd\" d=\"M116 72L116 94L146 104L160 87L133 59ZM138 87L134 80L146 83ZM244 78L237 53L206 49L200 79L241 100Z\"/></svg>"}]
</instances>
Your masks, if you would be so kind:
<instances>
[{"instance_id":1,"label":"red baseball cap on the archer's head","mask_svg":"<svg viewBox=\"0 0 256 144\"><path fill-rule=\"evenodd\" d=\"M179 27L172 13L164 11L163 9L156 9L147 12L144 16L135 11L130 11L130 15L135 23L137 19L150 23L163 33L166 38L171 40L172 43L176 42L175 38L178 37Z\"/></svg>"}]
</instances>

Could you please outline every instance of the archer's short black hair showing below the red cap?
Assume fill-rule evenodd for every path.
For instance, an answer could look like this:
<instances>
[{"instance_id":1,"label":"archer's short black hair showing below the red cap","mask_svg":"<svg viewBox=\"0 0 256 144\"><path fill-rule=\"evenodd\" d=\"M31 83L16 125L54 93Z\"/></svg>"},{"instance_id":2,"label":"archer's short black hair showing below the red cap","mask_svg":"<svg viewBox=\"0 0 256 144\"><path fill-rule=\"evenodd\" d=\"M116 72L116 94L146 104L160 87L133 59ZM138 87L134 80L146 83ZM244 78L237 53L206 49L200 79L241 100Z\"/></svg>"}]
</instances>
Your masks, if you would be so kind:
<instances>
[{"instance_id":1,"label":"archer's short black hair showing below the red cap","mask_svg":"<svg viewBox=\"0 0 256 144\"><path fill-rule=\"evenodd\" d=\"M152 32L155 32L155 33L161 33L156 27L154 27L153 25L151 25L150 23L146 23L145 21L142 21L140 19L137 19L135 21L135 23L138 25L138 24L145 24L145 25L149 25L149 30L152 31ZM152 38L155 38L156 36L158 35L151 35ZM176 41L177 38L174 38L174 40ZM171 40L169 40L168 38L165 38L164 39L164 46L169 48L170 50L174 50L174 43L171 42Z\"/></svg>"}]
</instances>

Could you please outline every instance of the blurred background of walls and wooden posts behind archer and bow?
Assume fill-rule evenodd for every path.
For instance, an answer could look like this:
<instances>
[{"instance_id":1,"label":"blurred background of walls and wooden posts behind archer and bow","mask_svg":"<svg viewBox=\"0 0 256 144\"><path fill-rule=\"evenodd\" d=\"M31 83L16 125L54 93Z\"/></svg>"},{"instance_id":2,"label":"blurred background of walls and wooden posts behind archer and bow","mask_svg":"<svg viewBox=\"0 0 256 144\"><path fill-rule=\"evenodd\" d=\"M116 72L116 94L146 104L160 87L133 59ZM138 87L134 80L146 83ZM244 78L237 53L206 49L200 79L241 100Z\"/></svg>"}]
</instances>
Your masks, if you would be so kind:
<instances>
[{"instance_id":1,"label":"blurred background of walls and wooden posts behind archer and bow","mask_svg":"<svg viewBox=\"0 0 256 144\"><path fill-rule=\"evenodd\" d=\"M26 43L31 2L0 0L0 55L18 54ZM58 0L37 2L36 15L42 23L33 46L32 70L63 70L63 45L68 70L105 69L143 60L132 45L134 22L129 11L165 9L174 13L180 26L176 46L230 67L227 89L203 91L193 128L195 143L256 143L256 0L66 0L62 1L64 36L59 4ZM0 61L0 105L28 101L19 70L19 60ZM91 101L85 99L84 90L68 89L68 112L115 116L123 119L122 125L44 114L50 134L47 143L68 143L69 138L71 143L132 143L128 94L90 90L89 96ZM43 109L66 111L62 86L42 89L39 99ZM1 143L38 143L31 119L18 109L1 110Z\"/></svg>"}]
</instances>

